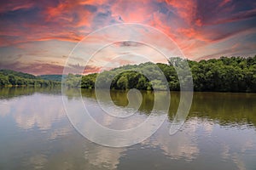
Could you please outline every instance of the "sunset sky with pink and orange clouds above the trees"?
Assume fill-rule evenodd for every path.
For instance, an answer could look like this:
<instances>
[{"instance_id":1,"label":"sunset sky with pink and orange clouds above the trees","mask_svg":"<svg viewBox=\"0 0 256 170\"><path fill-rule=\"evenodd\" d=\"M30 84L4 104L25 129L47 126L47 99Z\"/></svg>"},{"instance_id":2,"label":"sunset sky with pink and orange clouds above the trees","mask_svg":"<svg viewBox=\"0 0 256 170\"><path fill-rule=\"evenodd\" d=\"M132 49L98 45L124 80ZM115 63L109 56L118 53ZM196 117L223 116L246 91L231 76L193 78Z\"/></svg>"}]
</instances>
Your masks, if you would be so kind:
<instances>
[{"instance_id":1,"label":"sunset sky with pink and orange clouds above the trees","mask_svg":"<svg viewBox=\"0 0 256 170\"><path fill-rule=\"evenodd\" d=\"M105 26L123 23L162 31L188 59L256 54L253 0L9 0L0 1L0 69L61 74L68 56L84 37ZM137 31L133 33L138 35ZM98 47L103 38L87 43ZM139 43L116 44L102 50L99 56L106 57L90 62L84 72L100 71L102 65L111 62L108 55L116 48L116 54L124 47L149 50ZM124 59L121 62L129 63ZM78 59L68 66L81 65Z\"/></svg>"}]
</instances>

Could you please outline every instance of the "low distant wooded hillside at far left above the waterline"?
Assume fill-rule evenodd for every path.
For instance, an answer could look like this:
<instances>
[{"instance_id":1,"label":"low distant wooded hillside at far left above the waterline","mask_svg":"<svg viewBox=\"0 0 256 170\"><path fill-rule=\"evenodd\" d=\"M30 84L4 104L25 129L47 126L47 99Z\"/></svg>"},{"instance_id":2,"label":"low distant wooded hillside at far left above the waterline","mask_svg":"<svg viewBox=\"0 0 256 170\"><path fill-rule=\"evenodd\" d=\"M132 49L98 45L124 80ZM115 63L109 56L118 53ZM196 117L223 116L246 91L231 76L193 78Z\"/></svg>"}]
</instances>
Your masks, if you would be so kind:
<instances>
[{"instance_id":1,"label":"low distant wooded hillside at far left above the waterline","mask_svg":"<svg viewBox=\"0 0 256 170\"><path fill-rule=\"evenodd\" d=\"M43 80L40 77L33 76L31 74L10 71L10 70L0 70L0 87L3 86L37 86L37 87L47 87L47 86L60 86L61 82Z\"/></svg>"}]
</instances>

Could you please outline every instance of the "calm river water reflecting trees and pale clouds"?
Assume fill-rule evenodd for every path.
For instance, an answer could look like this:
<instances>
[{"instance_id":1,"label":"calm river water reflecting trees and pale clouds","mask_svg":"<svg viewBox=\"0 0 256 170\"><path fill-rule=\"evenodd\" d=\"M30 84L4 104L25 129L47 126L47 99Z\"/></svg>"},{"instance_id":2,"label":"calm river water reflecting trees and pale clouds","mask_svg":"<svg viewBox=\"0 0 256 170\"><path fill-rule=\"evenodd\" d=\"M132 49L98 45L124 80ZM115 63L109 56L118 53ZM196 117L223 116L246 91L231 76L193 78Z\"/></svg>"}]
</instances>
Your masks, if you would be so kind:
<instances>
[{"instance_id":1,"label":"calm river water reflecting trees and pale clouds","mask_svg":"<svg viewBox=\"0 0 256 170\"><path fill-rule=\"evenodd\" d=\"M92 90L83 90L82 99L97 122L121 129L137 126L150 114L154 94L142 94L143 103L128 122L95 109ZM125 92L112 91L111 96L116 105L128 104ZM187 121L173 136L169 129L179 94L171 98L168 119L152 137L109 148L84 139L73 128L61 89L0 88L0 169L256 169L256 94L195 93ZM76 108L81 98L78 90L70 89L64 99Z\"/></svg>"}]
</instances>

